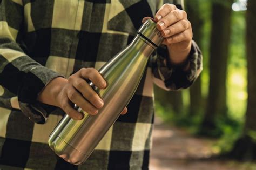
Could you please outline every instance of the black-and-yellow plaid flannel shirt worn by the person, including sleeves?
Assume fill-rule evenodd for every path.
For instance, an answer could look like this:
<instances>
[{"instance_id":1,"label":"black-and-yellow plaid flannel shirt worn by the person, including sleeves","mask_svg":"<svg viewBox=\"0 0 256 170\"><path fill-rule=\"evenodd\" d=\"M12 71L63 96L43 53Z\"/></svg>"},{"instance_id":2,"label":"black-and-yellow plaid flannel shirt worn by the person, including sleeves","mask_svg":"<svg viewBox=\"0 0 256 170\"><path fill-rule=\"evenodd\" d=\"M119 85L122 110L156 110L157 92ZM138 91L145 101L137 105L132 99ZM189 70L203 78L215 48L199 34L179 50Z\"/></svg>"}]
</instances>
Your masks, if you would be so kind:
<instances>
[{"instance_id":1,"label":"black-and-yellow plaid flannel shirt worn by the person, including sleeves","mask_svg":"<svg viewBox=\"0 0 256 170\"><path fill-rule=\"evenodd\" d=\"M182 6L182 1L166 2ZM128 113L118 118L83 165L69 164L51 151L47 144L49 134L64 113L36 98L53 78L69 77L82 67L99 69L131 42L142 18L153 17L164 2L0 3L0 168L148 169L154 119L153 83L168 90L190 86L202 70L196 43L192 45L187 72L166 62L164 46L153 53L127 106Z\"/></svg>"}]
</instances>

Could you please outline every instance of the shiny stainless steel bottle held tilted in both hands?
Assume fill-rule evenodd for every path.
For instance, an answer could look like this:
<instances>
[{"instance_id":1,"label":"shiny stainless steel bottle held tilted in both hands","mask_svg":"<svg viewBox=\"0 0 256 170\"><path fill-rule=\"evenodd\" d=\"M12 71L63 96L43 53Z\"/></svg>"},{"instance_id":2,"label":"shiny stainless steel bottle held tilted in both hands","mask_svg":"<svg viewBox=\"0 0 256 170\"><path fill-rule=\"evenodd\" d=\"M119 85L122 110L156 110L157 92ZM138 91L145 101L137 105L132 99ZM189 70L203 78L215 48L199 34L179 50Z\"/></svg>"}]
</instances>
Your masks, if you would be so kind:
<instances>
[{"instance_id":1,"label":"shiny stainless steel bottle held tilted in both hands","mask_svg":"<svg viewBox=\"0 0 256 170\"><path fill-rule=\"evenodd\" d=\"M90 85L103 99L104 106L97 115L89 115L75 105L84 114L82 120L73 120L65 115L48 141L59 157L75 165L86 161L131 100L147 60L163 39L156 23L148 19L132 42L99 70L107 82L106 89L98 89L92 83Z\"/></svg>"}]
</instances>

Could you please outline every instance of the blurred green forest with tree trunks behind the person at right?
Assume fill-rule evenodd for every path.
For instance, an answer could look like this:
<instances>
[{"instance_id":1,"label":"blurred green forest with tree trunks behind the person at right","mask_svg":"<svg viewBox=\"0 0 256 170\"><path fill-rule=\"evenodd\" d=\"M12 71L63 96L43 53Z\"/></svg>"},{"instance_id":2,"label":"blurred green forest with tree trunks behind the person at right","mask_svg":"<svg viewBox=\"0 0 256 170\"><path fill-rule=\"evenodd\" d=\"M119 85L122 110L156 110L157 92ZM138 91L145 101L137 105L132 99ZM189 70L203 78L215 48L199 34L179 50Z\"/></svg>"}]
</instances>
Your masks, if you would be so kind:
<instances>
[{"instance_id":1,"label":"blurred green forest with tree trunks behind the person at right","mask_svg":"<svg viewBox=\"0 0 256 170\"><path fill-rule=\"evenodd\" d=\"M256 1L185 0L185 10L204 70L190 89L155 87L156 114L196 137L215 140L216 155L255 160Z\"/></svg>"}]
</instances>

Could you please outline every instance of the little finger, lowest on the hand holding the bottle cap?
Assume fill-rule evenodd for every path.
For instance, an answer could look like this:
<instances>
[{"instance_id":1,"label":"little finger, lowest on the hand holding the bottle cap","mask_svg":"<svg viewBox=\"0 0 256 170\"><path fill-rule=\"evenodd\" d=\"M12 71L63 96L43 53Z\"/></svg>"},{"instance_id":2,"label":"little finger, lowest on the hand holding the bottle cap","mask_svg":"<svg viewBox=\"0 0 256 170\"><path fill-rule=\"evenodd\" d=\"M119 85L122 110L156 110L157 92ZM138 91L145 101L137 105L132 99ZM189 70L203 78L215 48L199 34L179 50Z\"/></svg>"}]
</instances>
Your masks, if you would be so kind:
<instances>
[{"instance_id":1,"label":"little finger, lowest on the hand holding the bottle cap","mask_svg":"<svg viewBox=\"0 0 256 170\"><path fill-rule=\"evenodd\" d=\"M169 38L165 38L164 44L170 45L170 44L179 43L179 42L183 42L183 41L189 42L191 39L192 39L191 31L189 29L187 29L187 30L185 30L181 33L178 33L176 35L173 35Z\"/></svg>"}]
</instances>

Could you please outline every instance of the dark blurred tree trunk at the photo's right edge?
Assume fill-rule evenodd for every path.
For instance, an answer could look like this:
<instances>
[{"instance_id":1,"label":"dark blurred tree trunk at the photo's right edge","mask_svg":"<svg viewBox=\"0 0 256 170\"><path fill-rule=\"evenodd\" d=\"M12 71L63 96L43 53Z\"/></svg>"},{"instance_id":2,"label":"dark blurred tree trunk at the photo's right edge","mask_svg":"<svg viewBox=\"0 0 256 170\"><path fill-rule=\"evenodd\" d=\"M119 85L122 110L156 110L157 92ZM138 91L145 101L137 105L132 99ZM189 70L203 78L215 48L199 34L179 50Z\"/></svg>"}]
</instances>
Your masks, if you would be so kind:
<instances>
[{"instance_id":1,"label":"dark blurred tree trunk at the photo's right edge","mask_svg":"<svg viewBox=\"0 0 256 170\"><path fill-rule=\"evenodd\" d=\"M244 134L235 142L230 157L239 160L256 159L256 1L248 0L246 13L246 51L247 51L247 78L248 100Z\"/></svg>"}]
</instances>

